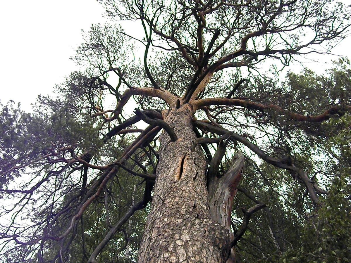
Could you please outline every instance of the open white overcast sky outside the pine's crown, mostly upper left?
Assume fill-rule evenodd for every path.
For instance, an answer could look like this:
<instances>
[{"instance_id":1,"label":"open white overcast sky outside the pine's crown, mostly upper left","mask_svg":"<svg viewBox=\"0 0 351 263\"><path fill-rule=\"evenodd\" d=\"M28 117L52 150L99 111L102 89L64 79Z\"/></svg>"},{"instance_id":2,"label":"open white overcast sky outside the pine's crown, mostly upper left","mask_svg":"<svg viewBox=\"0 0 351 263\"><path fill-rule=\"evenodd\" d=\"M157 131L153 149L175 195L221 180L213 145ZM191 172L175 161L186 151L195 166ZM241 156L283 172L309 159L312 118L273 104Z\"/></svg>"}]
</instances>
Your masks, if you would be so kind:
<instances>
[{"instance_id":1,"label":"open white overcast sky outside the pine's crown, mostly upper left","mask_svg":"<svg viewBox=\"0 0 351 263\"><path fill-rule=\"evenodd\" d=\"M96 0L1 0L1 102L12 99L29 110L39 94L52 93L56 83L78 69L69 57L82 43L81 29L103 23L103 12ZM334 53L351 59L351 37ZM320 59L330 61L337 57ZM315 71L325 67L324 63L307 66Z\"/></svg>"}]
</instances>

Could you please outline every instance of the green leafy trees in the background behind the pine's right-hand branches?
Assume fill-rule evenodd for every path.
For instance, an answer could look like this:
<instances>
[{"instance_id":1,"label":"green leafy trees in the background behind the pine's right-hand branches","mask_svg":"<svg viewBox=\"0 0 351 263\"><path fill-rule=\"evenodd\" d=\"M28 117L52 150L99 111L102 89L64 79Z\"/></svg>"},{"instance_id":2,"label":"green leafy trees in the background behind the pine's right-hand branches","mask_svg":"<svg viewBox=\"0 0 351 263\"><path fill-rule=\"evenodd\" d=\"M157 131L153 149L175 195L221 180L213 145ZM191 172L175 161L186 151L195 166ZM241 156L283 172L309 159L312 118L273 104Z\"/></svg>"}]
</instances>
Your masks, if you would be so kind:
<instances>
[{"instance_id":1,"label":"green leafy trees in the background behind the pine's right-hand branches","mask_svg":"<svg viewBox=\"0 0 351 263\"><path fill-rule=\"evenodd\" d=\"M292 112L315 116L341 100L350 103L350 97L345 96L346 92L350 93L351 83L347 61L339 61L327 73L324 76L310 70L290 73L288 81L280 86L270 82L261 87L257 82L257 90L252 89L246 96L257 94L260 100L269 98L267 103L273 100ZM269 97L266 90L280 95ZM311 180L328 189L329 194L325 199L320 195L321 205L315 207L305 186L296 180L296 174L267 164L257 166L248 157L245 176L239 185L244 191L238 191L233 204L234 230L240 228L242 207L247 209L259 201L267 204L267 208L253 216L238 242L237 253L241 258L248 262L349 262L351 118L348 112L338 114L340 117L331 118L319 127L286 122L274 115L266 117L266 121L256 120L260 126L271 124L270 132L274 135L260 144L266 153L279 158L292 156L294 165L314 174Z\"/></svg>"}]
</instances>

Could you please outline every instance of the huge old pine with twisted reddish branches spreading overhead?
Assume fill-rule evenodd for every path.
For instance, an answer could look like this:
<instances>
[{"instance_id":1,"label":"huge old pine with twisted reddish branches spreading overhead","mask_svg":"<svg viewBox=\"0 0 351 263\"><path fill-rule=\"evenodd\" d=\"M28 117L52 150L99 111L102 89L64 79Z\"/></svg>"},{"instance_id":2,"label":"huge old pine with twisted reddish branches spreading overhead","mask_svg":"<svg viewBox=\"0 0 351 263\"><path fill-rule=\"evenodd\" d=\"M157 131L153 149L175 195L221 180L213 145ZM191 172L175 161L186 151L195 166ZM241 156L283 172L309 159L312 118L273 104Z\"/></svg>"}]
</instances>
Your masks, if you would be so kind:
<instances>
[{"instance_id":1,"label":"huge old pine with twisted reddish branches spreading overhead","mask_svg":"<svg viewBox=\"0 0 351 263\"><path fill-rule=\"evenodd\" d=\"M57 86L57 99L39 97L33 114L3 106L1 197L13 200L1 211L5 260L135 261L141 227L122 226L143 224L142 209L138 262L289 257L309 218L324 218L327 187L339 189L333 178L350 180L340 169L346 147L328 141L349 127L326 123L351 109L350 74L306 70L282 82L260 67L274 63L274 73L278 62L330 53L350 7L101 2L112 19L139 22L144 36L93 25L72 58L87 70ZM141 120L145 129L135 126Z\"/></svg>"}]
</instances>

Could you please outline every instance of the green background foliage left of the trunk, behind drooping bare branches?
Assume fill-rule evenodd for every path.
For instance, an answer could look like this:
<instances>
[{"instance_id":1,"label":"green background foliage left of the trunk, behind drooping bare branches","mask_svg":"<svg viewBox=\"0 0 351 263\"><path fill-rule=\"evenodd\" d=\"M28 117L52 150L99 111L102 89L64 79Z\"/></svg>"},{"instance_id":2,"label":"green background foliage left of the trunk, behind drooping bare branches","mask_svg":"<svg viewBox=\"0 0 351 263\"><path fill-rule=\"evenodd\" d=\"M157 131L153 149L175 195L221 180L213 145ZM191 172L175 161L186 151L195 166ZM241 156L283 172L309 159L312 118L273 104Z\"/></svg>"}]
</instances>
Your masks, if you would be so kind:
<instances>
[{"instance_id":1,"label":"green background foliage left of the trunk, behind drooping bare branches","mask_svg":"<svg viewBox=\"0 0 351 263\"><path fill-rule=\"evenodd\" d=\"M140 184L140 181L135 176L120 171L107 186L105 196L98 198L97 202L86 210L84 220L77 226L76 237L69 246L70 262L87 261L111 226L127 213L134 202L143 197L144 184ZM111 258L114 258L116 263L137 262L146 216L146 210L135 212L99 254L99 261L110 262ZM126 251L129 254L128 261Z\"/></svg>"}]
</instances>

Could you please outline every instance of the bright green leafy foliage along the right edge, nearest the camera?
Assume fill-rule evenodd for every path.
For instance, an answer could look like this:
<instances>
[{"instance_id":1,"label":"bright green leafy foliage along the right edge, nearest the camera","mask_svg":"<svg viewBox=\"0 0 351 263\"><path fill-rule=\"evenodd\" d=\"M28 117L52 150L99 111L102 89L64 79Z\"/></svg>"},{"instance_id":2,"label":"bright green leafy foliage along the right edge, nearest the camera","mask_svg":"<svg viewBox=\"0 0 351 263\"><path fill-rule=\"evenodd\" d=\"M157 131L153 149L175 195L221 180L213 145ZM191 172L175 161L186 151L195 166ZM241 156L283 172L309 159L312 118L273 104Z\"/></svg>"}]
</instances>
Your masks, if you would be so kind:
<instances>
[{"instance_id":1,"label":"bright green leafy foliage along the right edge, nearest the camera","mask_svg":"<svg viewBox=\"0 0 351 263\"><path fill-rule=\"evenodd\" d=\"M344 68L345 70L345 68ZM349 85L350 71L332 70L337 86ZM337 77L336 77L337 76ZM343 78L341 78L343 76ZM346 79L345 79L346 78ZM343 90L343 88L340 88ZM329 192L318 211L313 211L303 224L299 245L289 248L281 257L285 262L347 263L351 258L351 116L345 113L327 124L333 136L325 140L326 149L338 160L338 172L328 186Z\"/></svg>"}]
</instances>

